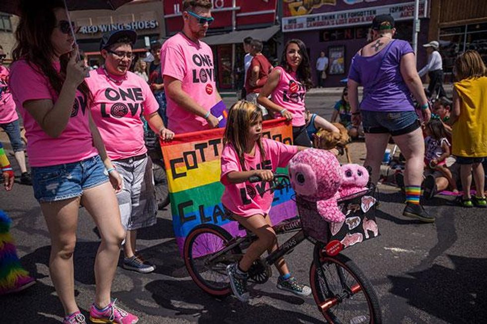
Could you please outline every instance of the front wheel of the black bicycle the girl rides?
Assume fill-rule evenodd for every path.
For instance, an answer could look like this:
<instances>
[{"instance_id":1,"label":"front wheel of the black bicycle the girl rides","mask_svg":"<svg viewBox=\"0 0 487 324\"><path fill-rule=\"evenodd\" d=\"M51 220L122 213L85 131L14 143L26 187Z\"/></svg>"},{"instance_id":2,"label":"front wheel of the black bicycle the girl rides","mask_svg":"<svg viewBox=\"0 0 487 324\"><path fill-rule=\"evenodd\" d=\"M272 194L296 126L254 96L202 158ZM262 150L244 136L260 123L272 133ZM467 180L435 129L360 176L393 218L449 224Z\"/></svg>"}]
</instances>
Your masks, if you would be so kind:
<instances>
[{"instance_id":1,"label":"front wheel of the black bicycle the girl rides","mask_svg":"<svg viewBox=\"0 0 487 324\"><path fill-rule=\"evenodd\" d=\"M321 271L310 268L313 297L329 324L381 324L379 299L372 284L347 257L321 256Z\"/></svg>"}]
</instances>

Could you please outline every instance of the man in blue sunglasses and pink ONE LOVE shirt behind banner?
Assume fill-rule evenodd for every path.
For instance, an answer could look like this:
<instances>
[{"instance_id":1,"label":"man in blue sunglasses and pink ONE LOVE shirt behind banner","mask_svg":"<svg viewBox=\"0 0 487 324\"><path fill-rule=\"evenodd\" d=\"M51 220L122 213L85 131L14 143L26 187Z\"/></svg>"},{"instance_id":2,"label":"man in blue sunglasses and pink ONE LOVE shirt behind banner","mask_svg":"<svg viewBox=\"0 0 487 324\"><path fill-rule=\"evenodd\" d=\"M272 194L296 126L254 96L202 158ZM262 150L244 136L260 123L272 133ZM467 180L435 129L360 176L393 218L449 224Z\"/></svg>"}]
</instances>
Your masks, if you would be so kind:
<instances>
[{"instance_id":1,"label":"man in blue sunglasses and pink ONE LOVE shirt behind banner","mask_svg":"<svg viewBox=\"0 0 487 324\"><path fill-rule=\"evenodd\" d=\"M182 9L183 30L161 49L167 127L176 134L217 127L221 109L216 113L212 108L223 105L216 88L213 53L201 41L214 20L211 1L184 0Z\"/></svg>"}]
</instances>

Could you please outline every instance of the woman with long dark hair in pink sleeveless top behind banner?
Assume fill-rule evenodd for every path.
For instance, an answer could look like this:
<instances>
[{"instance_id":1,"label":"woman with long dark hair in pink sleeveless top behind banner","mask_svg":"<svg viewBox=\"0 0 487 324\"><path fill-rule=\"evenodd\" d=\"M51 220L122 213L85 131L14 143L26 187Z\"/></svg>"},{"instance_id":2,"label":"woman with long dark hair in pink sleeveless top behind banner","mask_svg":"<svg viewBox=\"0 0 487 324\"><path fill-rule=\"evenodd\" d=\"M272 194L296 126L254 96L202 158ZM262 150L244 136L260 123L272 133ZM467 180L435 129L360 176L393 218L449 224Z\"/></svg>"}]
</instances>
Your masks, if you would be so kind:
<instances>
[{"instance_id":1,"label":"woman with long dark hair in pink sleeveless top behind banner","mask_svg":"<svg viewBox=\"0 0 487 324\"><path fill-rule=\"evenodd\" d=\"M270 72L257 102L275 118L282 116L291 121L294 145L312 146L305 121L305 96L312 86L306 45L299 39L292 39L284 46L281 63Z\"/></svg>"}]
</instances>

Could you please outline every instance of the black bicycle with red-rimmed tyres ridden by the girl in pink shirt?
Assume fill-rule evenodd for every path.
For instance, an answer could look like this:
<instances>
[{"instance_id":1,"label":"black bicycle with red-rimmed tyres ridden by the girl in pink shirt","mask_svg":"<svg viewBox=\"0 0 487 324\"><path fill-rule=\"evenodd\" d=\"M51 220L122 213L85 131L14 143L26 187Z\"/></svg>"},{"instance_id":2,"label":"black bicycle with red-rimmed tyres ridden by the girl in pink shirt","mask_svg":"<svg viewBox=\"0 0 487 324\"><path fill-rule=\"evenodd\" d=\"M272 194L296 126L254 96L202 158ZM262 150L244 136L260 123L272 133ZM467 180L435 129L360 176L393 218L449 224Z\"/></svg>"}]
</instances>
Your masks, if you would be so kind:
<instances>
[{"instance_id":1,"label":"black bicycle with red-rimmed tyres ridden by the girl in pink shirt","mask_svg":"<svg viewBox=\"0 0 487 324\"><path fill-rule=\"evenodd\" d=\"M260 181L260 178L255 178L251 179L251 182ZM288 186L290 182L287 175L275 174L269 190L283 190ZM374 188L369 188L365 192L346 197L347 199L340 200L339 203L346 204L373 192ZM296 202L300 214L309 215L310 211L316 211L304 211L310 208L310 205L312 208L313 203L304 201L299 196L296 196ZM382 323L379 299L372 284L351 259L337 254L336 246L326 242L330 237L328 223L321 219L317 211L315 216L318 218L296 216L273 226L276 235L297 233L266 258L255 260L248 270L249 281L266 282L272 275L271 265L277 259L291 253L298 244L308 240L315 245L310 266L310 286L325 320L330 324ZM317 226L317 220L321 225ZM325 239L313 233L319 231L320 226L322 229L326 228ZM239 228L243 229L241 226ZM243 250L256 239L257 237L249 232L244 237L232 237L225 229L213 224L195 227L187 235L183 250L184 262L191 278L211 296L222 298L230 295L232 290L226 267L239 261L243 256Z\"/></svg>"}]
</instances>

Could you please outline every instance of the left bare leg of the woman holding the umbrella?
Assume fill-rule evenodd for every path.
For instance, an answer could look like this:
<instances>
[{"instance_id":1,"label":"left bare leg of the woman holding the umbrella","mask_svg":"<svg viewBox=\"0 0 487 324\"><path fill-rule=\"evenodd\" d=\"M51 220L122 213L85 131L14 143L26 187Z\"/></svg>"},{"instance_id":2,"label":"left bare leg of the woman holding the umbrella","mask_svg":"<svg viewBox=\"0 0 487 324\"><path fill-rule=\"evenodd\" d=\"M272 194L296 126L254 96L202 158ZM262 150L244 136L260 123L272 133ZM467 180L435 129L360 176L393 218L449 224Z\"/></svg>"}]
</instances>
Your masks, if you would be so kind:
<instances>
[{"instance_id":1,"label":"left bare leg of the woman holding the umbrella","mask_svg":"<svg viewBox=\"0 0 487 324\"><path fill-rule=\"evenodd\" d=\"M41 203L51 236L49 273L66 315L79 311L75 300L73 266L79 207L79 197Z\"/></svg>"}]
</instances>

